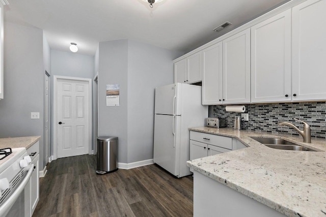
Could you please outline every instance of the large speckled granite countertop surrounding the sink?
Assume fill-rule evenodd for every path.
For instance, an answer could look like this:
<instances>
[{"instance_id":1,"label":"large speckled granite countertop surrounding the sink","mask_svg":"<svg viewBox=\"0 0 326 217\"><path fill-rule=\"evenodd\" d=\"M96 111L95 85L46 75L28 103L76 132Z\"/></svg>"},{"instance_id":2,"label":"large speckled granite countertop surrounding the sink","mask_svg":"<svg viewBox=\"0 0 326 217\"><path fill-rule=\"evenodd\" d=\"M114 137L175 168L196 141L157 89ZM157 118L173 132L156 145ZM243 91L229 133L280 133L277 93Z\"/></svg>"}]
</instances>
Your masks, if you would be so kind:
<instances>
[{"instance_id":1,"label":"large speckled granite countertop surrounding the sink","mask_svg":"<svg viewBox=\"0 0 326 217\"><path fill-rule=\"evenodd\" d=\"M326 217L326 141L233 128L190 128L235 137L247 148L188 161L187 165L288 216ZM276 137L317 151L269 148L250 137Z\"/></svg>"}]
</instances>

